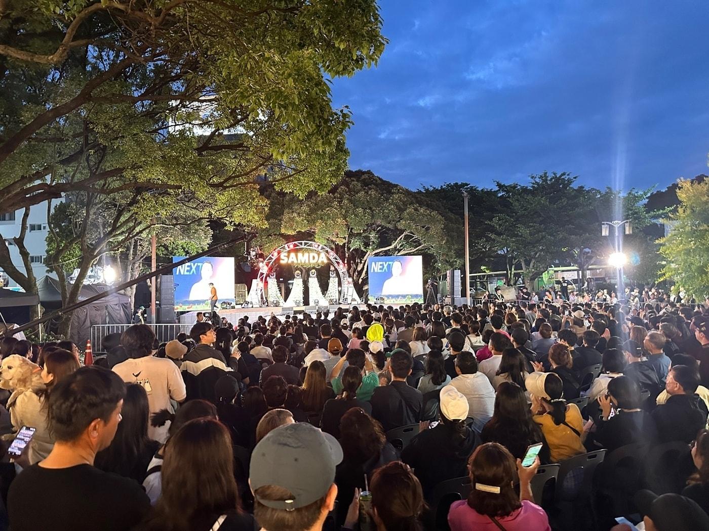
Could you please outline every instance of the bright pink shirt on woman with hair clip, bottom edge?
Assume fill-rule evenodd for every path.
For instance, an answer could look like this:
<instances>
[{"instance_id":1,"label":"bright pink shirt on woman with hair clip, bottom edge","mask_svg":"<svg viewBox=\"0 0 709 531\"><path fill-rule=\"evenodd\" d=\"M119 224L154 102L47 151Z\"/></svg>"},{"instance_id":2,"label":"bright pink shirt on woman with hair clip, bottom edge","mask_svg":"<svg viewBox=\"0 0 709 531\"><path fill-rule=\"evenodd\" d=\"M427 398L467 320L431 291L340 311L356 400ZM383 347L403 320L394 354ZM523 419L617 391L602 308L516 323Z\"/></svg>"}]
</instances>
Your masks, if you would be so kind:
<instances>
[{"instance_id":1,"label":"bright pink shirt on woman with hair clip, bottom edge","mask_svg":"<svg viewBox=\"0 0 709 531\"><path fill-rule=\"evenodd\" d=\"M522 507L509 516L496 518L506 531L551 531L549 517L540 506L523 501ZM451 531L500 531L488 516L470 508L467 501L454 501L448 512Z\"/></svg>"}]
</instances>

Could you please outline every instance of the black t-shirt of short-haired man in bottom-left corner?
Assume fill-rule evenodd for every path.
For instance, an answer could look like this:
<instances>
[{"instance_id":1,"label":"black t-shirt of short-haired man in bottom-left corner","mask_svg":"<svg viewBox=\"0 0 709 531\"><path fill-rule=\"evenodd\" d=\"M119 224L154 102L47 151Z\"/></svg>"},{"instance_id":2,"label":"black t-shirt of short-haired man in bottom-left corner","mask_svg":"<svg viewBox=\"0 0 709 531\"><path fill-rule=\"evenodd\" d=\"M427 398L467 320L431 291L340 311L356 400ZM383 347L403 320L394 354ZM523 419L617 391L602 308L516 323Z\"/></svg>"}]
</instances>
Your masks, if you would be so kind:
<instances>
[{"instance_id":1,"label":"black t-shirt of short-haired man in bottom-left corner","mask_svg":"<svg viewBox=\"0 0 709 531\"><path fill-rule=\"evenodd\" d=\"M150 510L143 486L90 464L48 469L34 464L10 486L13 531L124 531Z\"/></svg>"}]
</instances>

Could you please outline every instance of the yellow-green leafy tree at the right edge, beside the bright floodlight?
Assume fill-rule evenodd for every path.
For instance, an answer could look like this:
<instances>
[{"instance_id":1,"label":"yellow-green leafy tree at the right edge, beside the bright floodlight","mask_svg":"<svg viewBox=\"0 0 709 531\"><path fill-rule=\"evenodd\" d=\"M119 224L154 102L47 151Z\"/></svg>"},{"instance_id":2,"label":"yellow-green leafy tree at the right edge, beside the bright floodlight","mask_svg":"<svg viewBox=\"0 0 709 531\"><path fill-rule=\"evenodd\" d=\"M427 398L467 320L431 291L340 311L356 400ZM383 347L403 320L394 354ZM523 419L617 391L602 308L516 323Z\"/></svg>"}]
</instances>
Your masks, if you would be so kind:
<instances>
[{"instance_id":1,"label":"yellow-green leafy tree at the right edge, beside the bright floodlight","mask_svg":"<svg viewBox=\"0 0 709 531\"><path fill-rule=\"evenodd\" d=\"M709 296L709 181L679 181L677 197L680 205L667 220L670 232L660 240L662 274L703 300Z\"/></svg>"}]
</instances>

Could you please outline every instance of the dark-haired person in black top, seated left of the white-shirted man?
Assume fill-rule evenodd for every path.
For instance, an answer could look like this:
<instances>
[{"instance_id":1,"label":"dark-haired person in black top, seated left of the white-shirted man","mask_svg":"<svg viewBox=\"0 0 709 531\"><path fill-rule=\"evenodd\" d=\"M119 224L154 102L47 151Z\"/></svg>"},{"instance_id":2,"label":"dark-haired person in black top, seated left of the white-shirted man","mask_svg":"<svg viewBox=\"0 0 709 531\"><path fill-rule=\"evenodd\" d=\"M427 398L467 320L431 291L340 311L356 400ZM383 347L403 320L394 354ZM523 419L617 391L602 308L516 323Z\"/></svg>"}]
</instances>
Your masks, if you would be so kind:
<instances>
[{"instance_id":1,"label":"dark-haired person in black top, seated left of the white-shirted man","mask_svg":"<svg viewBox=\"0 0 709 531\"><path fill-rule=\"evenodd\" d=\"M423 395L406 383L406 377L411 375L412 367L411 354L400 348L394 350L389 359L391 382L389 385L376 387L372 393L372 416L381 422L384 431L420 421Z\"/></svg>"}]
</instances>

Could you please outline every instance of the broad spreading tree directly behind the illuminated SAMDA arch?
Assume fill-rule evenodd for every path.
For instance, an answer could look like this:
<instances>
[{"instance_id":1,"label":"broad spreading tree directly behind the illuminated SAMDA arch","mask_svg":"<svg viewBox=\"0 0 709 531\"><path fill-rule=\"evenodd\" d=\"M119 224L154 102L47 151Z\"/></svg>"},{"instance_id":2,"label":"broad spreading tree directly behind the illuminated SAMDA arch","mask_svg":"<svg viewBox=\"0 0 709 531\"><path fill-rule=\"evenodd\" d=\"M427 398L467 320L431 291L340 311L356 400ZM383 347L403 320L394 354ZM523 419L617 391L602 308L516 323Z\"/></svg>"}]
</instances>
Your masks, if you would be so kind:
<instances>
[{"instance_id":1,"label":"broad spreading tree directly behind the illuminated SAMDA arch","mask_svg":"<svg viewBox=\"0 0 709 531\"><path fill-rule=\"evenodd\" d=\"M368 289L372 256L430 254L432 270L445 270L454 256L443 217L411 190L369 171L348 171L328 193L305 199L270 198L269 229L257 243L268 253L294 236L313 238L345 258L358 292Z\"/></svg>"}]
</instances>

